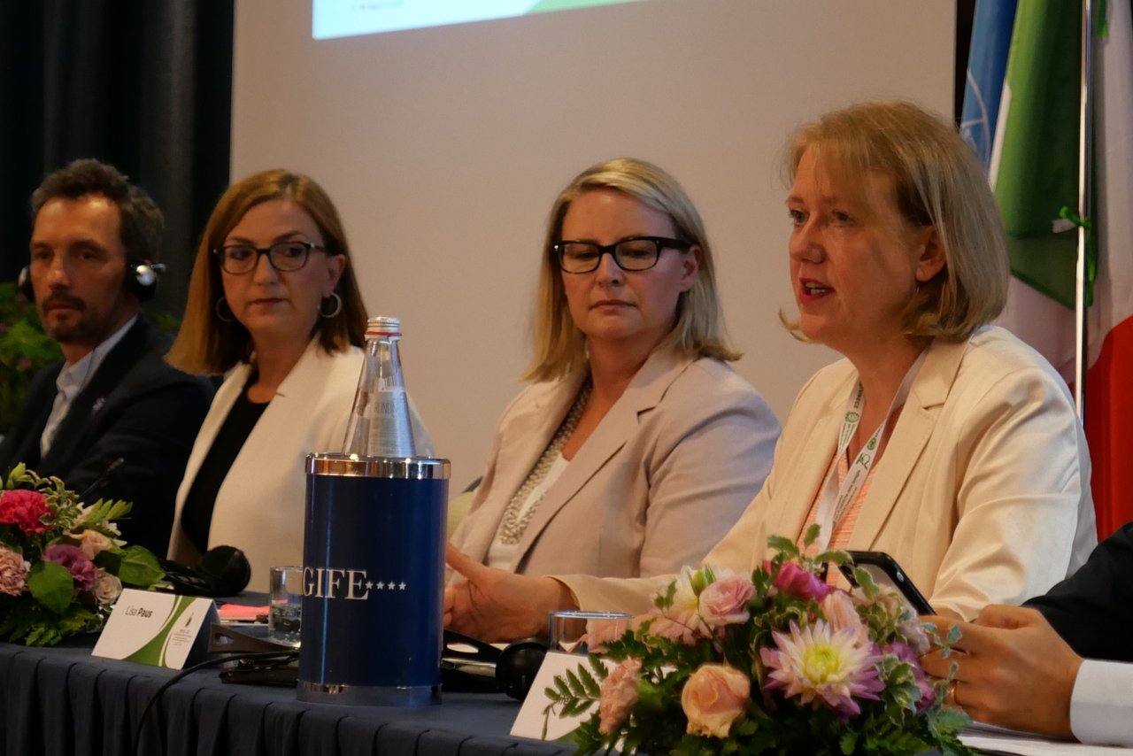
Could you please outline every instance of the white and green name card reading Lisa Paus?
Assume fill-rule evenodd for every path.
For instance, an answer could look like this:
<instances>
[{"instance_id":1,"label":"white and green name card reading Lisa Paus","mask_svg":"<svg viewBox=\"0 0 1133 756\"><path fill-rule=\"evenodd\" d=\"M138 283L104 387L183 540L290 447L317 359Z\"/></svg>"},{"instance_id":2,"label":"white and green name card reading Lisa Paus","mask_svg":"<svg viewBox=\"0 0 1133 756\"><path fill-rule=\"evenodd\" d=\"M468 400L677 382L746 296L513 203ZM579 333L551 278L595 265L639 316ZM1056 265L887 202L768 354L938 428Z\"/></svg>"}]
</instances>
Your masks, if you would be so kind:
<instances>
[{"instance_id":1,"label":"white and green name card reading Lisa Paus","mask_svg":"<svg viewBox=\"0 0 1133 756\"><path fill-rule=\"evenodd\" d=\"M127 588L91 653L179 670L205 652L206 620L220 621L212 598Z\"/></svg>"}]
</instances>

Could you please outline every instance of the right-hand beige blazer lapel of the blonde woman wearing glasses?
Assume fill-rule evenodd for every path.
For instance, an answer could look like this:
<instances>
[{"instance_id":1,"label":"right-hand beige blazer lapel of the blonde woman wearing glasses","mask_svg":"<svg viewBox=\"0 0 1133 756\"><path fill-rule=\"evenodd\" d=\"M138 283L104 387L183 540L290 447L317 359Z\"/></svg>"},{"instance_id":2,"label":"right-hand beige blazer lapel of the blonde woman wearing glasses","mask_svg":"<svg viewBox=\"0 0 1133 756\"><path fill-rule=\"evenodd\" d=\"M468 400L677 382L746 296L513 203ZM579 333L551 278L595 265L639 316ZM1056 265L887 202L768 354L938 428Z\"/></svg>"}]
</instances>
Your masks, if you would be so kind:
<instances>
[{"instance_id":1,"label":"right-hand beige blazer lapel of the blonde woman wearing glasses","mask_svg":"<svg viewBox=\"0 0 1133 756\"><path fill-rule=\"evenodd\" d=\"M633 436L641 413L656 407L676 376L690 364L691 360L679 358L668 350L654 352L649 356L649 359L625 388L625 392L610 408L606 416L598 423L598 427L594 430L590 438L570 460L570 465L563 470L562 476L539 502L538 509L535 510L523 536L519 541L512 569L518 569L539 533L555 513ZM572 393L571 399L573 396ZM563 415L565 415L565 409ZM554 427L557 428L559 423ZM539 451L542 453L543 450Z\"/></svg>"}]
</instances>

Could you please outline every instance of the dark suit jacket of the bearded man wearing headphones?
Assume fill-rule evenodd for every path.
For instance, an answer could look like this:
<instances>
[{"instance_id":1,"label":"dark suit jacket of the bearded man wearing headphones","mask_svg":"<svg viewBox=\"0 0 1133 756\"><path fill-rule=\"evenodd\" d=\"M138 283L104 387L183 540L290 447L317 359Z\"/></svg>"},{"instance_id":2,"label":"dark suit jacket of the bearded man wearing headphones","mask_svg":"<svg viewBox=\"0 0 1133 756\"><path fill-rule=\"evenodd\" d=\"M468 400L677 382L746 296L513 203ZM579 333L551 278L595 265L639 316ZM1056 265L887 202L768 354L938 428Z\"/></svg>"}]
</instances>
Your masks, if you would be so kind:
<instances>
[{"instance_id":1,"label":"dark suit jacket of the bearded man wearing headphones","mask_svg":"<svg viewBox=\"0 0 1133 756\"><path fill-rule=\"evenodd\" d=\"M169 338L143 316L110 350L97 372L75 397L48 453L40 436L56 400L62 362L40 371L19 417L0 443L0 472L25 462L40 475L57 475L78 493L102 477L119 457L122 464L104 484L84 496L134 503L118 523L122 537L164 557L173 525L177 486L201 422L212 401L212 384L165 364Z\"/></svg>"}]
</instances>

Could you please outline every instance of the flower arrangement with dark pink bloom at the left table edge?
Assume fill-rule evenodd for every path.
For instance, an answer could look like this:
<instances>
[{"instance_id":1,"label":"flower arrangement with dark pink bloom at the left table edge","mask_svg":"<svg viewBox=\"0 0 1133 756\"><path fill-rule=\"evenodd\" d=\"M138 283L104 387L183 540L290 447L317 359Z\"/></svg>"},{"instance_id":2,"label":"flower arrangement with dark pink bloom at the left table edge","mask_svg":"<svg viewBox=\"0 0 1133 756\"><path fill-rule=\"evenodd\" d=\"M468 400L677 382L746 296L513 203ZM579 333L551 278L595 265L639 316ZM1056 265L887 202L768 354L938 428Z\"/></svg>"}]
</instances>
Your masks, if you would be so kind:
<instances>
[{"instance_id":1,"label":"flower arrangement with dark pink bloom at the left table edge","mask_svg":"<svg viewBox=\"0 0 1133 756\"><path fill-rule=\"evenodd\" d=\"M122 584L164 574L142 546L125 546L113 520L125 501L84 507L57 477L17 465L0 492L0 638L50 646L96 630Z\"/></svg>"}]
</instances>

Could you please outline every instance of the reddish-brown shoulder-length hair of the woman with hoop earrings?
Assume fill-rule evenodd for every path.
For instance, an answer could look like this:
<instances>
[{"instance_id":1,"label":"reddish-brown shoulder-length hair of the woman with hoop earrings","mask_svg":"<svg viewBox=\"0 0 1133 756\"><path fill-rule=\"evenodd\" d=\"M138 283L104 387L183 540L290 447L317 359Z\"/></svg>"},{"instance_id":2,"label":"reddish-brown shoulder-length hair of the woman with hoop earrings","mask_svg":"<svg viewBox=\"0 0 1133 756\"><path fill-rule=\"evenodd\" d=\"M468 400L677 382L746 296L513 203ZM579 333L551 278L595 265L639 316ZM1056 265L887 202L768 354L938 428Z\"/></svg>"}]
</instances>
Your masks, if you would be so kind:
<instances>
[{"instance_id":1,"label":"reddish-brown shoulder-length hair of the woman with hoop earrings","mask_svg":"<svg viewBox=\"0 0 1133 756\"><path fill-rule=\"evenodd\" d=\"M342 298L342 311L334 317L320 317L315 323L320 346L334 352L365 343L366 305L358 291L346 231L334 203L314 179L278 168L253 173L228 187L208 218L197 245L185 317L165 356L173 367L187 373L218 375L250 359L248 330L236 320L221 320L216 312L223 287L220 263L212 250L224 244L224 238L245 213L270 199L288 199L301 206L318 227L326 254L347 258L346 269L334 287Z\"/></svg>"}]
</instances>

